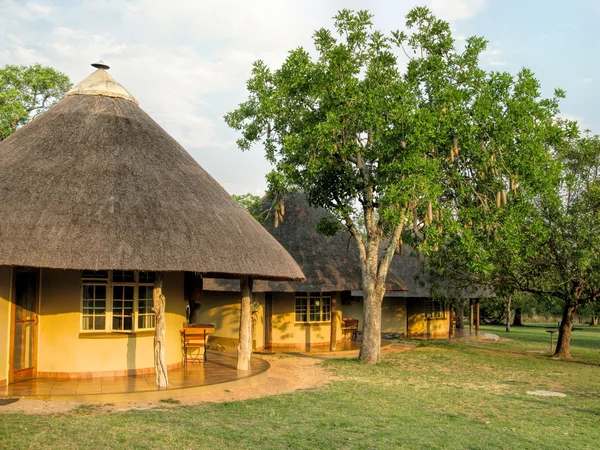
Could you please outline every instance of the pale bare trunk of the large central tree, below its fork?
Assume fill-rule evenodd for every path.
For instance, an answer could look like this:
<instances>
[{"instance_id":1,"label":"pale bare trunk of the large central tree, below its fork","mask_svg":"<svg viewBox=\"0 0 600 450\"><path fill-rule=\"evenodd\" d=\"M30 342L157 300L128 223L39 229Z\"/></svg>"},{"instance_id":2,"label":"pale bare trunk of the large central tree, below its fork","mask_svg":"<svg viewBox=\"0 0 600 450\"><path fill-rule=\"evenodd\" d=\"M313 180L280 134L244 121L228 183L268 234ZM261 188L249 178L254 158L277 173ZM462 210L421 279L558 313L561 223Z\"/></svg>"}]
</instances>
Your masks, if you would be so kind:
<instances>
[{"instance_id":1,"label":"pale bare trunk of the large central tree, below its fork","mask_svg":"<svg viewBox=\"0 0 600 450\"><path fill-rule=\"evenodd\" d=\"M385 292L363 279L363 334L358 358L376 364L381 358L381 304Z\"/></svg>"}]
</instances>

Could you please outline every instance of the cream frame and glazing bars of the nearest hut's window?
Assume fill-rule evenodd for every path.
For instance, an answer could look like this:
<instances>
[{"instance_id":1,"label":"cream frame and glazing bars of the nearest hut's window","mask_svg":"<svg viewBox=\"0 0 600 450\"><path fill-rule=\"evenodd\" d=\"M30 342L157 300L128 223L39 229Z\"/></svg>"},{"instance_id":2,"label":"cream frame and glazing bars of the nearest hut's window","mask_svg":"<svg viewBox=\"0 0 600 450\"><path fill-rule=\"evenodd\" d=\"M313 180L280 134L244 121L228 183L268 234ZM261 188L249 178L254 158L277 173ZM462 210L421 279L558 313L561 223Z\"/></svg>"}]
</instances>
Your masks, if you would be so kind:
<instances>
[{"instance_id":1,"label":"cream frame and glazing bars of the nearest hut's window","mask_svg":"<svg viewBox=\"0 0 600 450\"><path fill-rule=\"evenodd\" d=\"M80 320L79 320L79 331L81 333L124 333L124 334L131 334L131 333L137 333L140 331L152 331L154 330L154 326L149 327L149 328L140 328L139 325L139 318L140 317L149 317L149 316L153 316L153 313L140 313L139 312L139 288L140 286L146 286L146 287L153 287L154 283L153 282L140 282L140 271L135 270L135 271L124 271L124 272L133 272L134 276L133 279L134 281L113 281L113 271L112 270L107 270L107 277L106 278L92 278L92 277L84 277L84 272L86 271L82 271L81 272L81 287L80 287L80 294L79 294L79 302L80 302ZM144 273L145 271L141 271L142 273ZM84 292L84 286L105 286L106 287L106 305L105 305L105 312L104 312L104 328L103 329L84 329L84 318L85 317L89 317L88 314L84 314L84 298L83 298L83 292ZM133 287L133 312L132 312L132 327L131 330L113 330L113 287L114 286L132 286ZM92 315L92 317L97 317L95 314ZM147 319L150 321L150 323L153 322L153 320L151 319ZM92 319L92 323L93 325L94 323L94 319Z\"/></svg>"}]
</instances>

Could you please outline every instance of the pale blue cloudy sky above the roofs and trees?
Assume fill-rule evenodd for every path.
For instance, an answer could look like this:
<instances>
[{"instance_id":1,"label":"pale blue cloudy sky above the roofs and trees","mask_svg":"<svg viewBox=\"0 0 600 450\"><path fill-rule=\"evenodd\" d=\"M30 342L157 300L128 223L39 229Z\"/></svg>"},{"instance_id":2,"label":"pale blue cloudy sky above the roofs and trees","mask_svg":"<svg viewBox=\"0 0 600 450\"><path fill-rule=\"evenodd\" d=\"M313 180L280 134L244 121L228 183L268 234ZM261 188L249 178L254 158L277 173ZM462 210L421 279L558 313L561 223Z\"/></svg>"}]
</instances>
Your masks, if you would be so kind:
<instances>
[{"instance_id":1,"label":"pale blue cloudy sky above the roofs and trees","mask_svg":"<svg viewBox=\"0 0 600 450\"><path fill-rule=\"evenodd\" d=\"M240 151L223 121L246 100L252 63L275 69L291 49L312 50L342 8L368 9L389 32L416 5L450 22L459 44L486 38L484 68L527 67L545 96L566 90L561 114L600 133L596 0L0 0L0 66L40 63L78 83L102 59L228 192L262 195L263 150Z\"/></svg>"}]
</instances>

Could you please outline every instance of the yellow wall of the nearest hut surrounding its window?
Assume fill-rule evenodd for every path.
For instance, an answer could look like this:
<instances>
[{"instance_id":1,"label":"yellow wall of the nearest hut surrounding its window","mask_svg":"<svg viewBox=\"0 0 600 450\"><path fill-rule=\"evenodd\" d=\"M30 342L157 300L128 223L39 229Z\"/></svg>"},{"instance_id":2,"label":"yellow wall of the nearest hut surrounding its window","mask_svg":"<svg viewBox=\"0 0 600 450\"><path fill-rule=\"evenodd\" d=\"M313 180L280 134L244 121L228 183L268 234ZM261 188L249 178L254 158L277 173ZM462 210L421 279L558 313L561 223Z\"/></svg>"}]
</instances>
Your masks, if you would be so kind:
<instances>
[{"instance_id":1,"label":"yellow wall of the nearest hut surrounding its window","mask_svg":"<svg viewBox=\"0 0 600 450\"><path fill-rule=\"evenodd\" d=\"M42 270L39 372L101 372L154 366L153 332L80 333L81 271ZM165 273L167 365L181 362L180 330L185 322L183 273Z\"/></svg>"}]
</instances>

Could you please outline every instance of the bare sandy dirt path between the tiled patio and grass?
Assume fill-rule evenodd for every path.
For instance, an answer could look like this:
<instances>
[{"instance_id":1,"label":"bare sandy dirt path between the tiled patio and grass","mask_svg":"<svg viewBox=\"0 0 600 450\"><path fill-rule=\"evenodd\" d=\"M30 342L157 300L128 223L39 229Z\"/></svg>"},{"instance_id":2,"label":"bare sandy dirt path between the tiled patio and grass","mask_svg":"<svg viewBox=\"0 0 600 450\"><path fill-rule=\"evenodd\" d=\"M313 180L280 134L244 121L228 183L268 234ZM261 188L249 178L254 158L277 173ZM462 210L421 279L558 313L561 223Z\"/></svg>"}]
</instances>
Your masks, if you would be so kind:
<instances>
[{"instance_id":1,"label":"bare sandy dirt path between the tiled patio and grass","mask_svg":"<svg viewBox=\"0 0 600 450\"><path fill-rule=\"evenodd\" d=\"M392 345L382 349L382 355L390 352L405 351L413 346ZM336 357L356 357L358 352L348 352ZM90 404L86 403L92 410L106 412L121 412L129 410L144 410L155 407L169 407L183 405L192 405L202 402L222 403L250 398L259 398L267 395L286 394L305 389L315 389L324 386L336 379L330 371L321 364L323 360L329 358L325 354L277 354L265 355L262 358L269 361L271 368L267 377L256 383L249 383L240 386L224 387L194 395L179 398L178 402L165 403L159 400L152 402L128 401L114 404ZM25 414L60 414L69 412L75 408L81 407L81 402L66 402L57 400L25 400L20 399L15 403L0 406L0 413L22 412Z\"/></svg>"}]
</instances>

